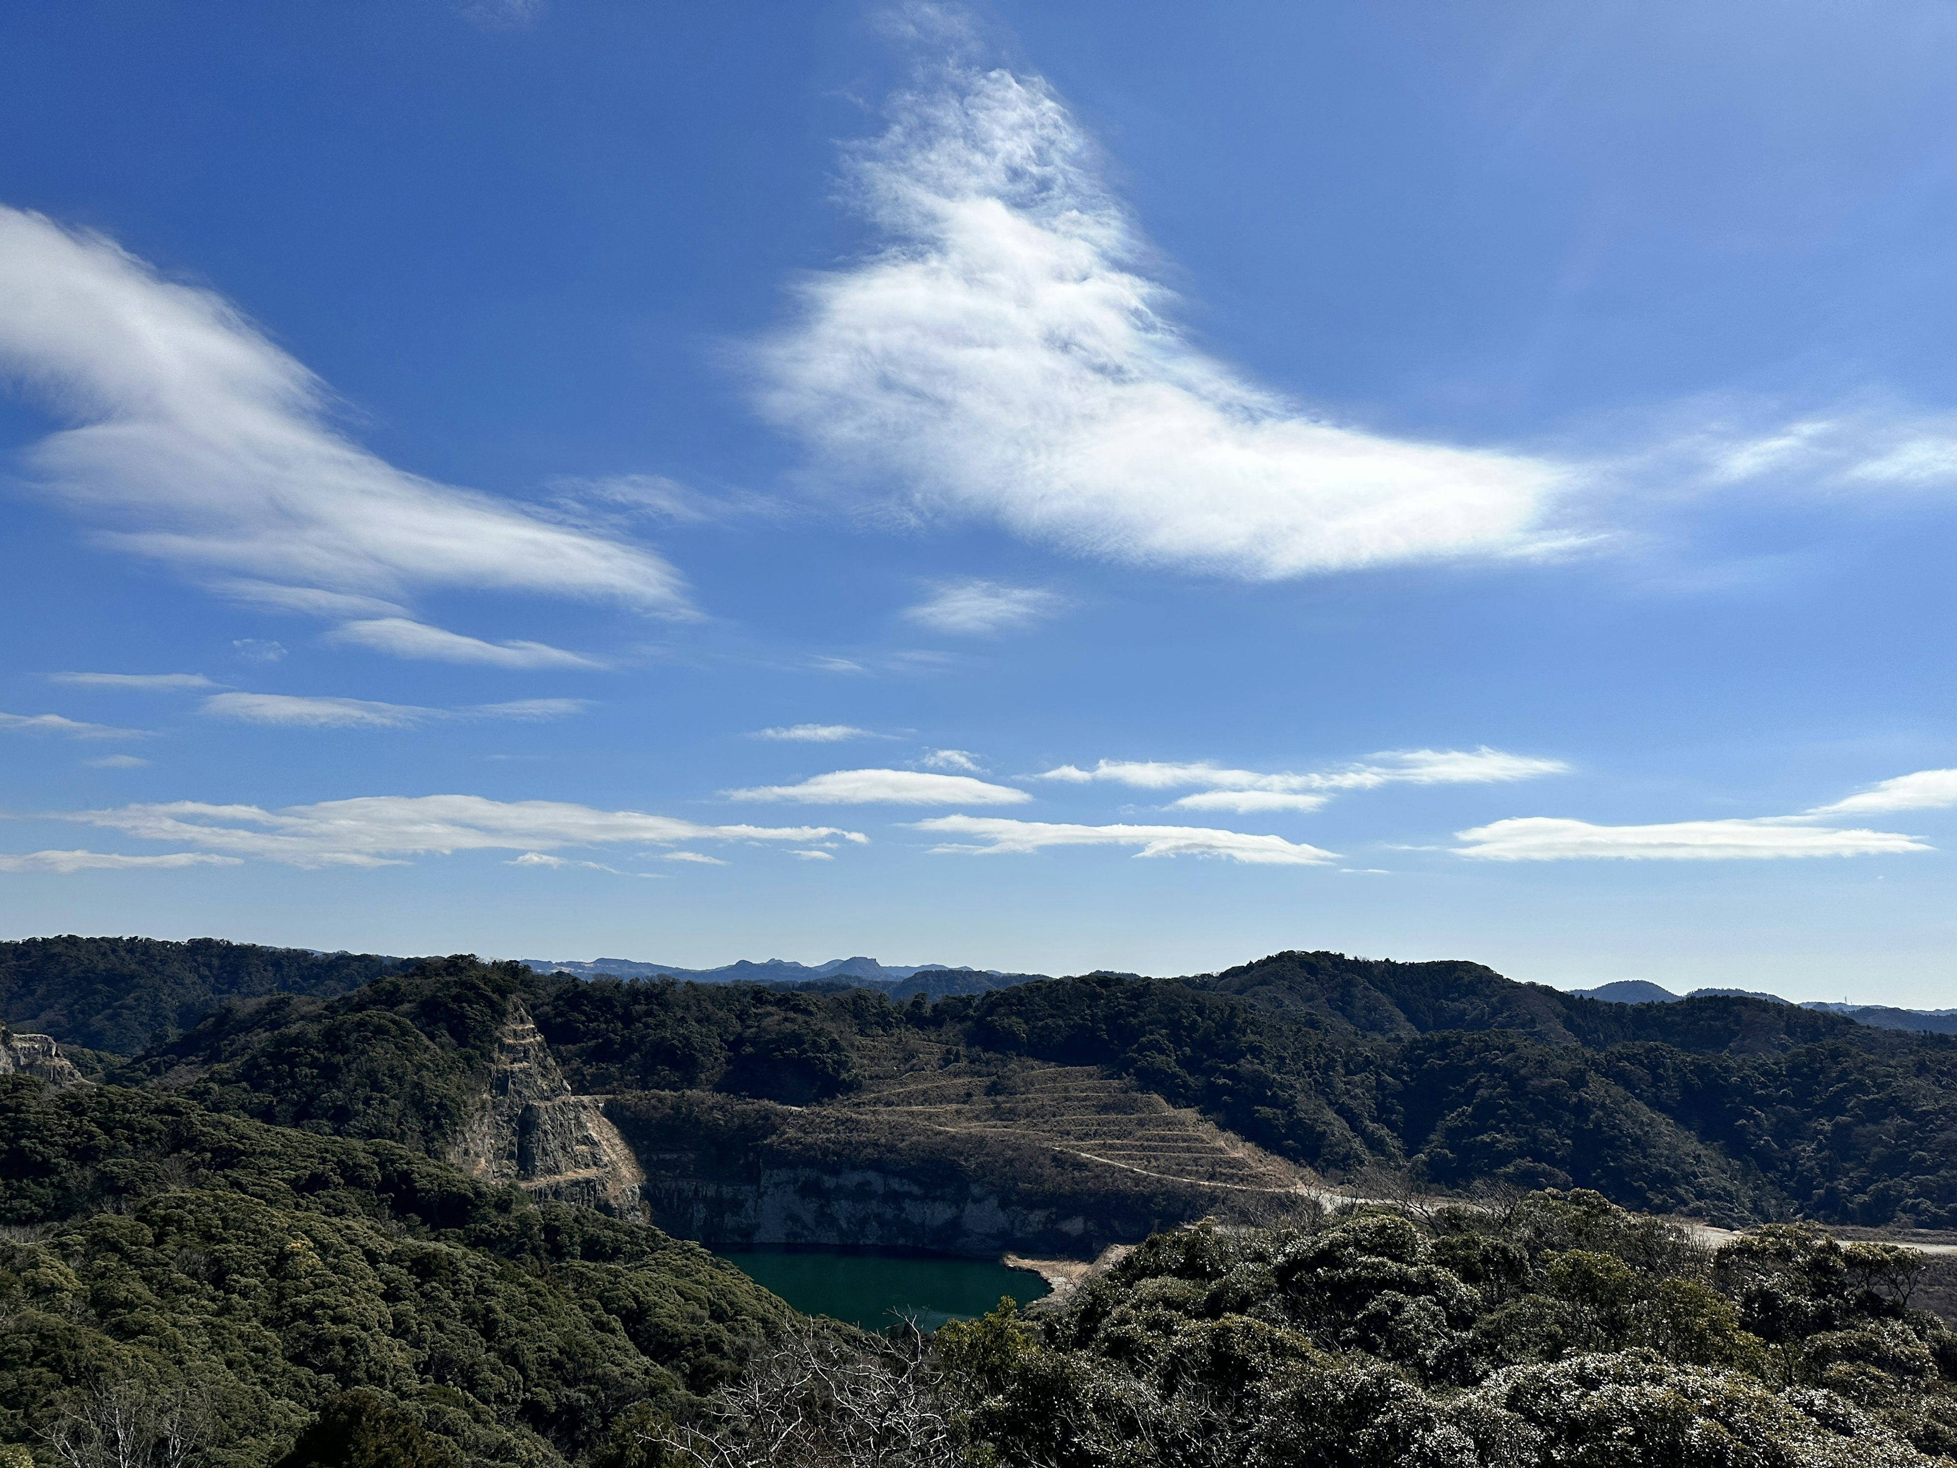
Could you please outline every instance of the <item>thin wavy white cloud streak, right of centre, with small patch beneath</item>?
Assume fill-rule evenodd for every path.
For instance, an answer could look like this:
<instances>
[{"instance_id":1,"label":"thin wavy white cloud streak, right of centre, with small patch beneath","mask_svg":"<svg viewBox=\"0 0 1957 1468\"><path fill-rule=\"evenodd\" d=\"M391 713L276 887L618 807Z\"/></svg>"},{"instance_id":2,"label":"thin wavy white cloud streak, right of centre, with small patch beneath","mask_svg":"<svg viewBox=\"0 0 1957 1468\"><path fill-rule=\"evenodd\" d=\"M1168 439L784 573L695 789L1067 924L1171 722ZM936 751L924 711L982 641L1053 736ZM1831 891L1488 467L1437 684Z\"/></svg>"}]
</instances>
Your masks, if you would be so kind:
<instances>
[{"instance_id":1,"label":"thin wavy white cloud streak, right of centre, with small patch beneath","mask_svg":"<svg viewBox=\"0 0 1957 1468\"><path fill-rule=\"evenodd\" d=\"M1368 756L1360 763L1315 769L1303 775L1290 771L1225 769L1207 759L1168 763L1155 759L1102 759L1094 769L1059 765L1037 779L1057 779L1072 785L1112 781L1139 791L1174 791L1200 785L1213 795L1186 795L1176 801L1188 810L1315 810L1329 791L1370 791L1380 785L1503 785L1538 775L1562 775L1570 769L1562 759L1507 754L1503 750L1389 750ZM1317 795L1315 801L1247 803L1251 795Z\"/></svg>"}]
</instances>

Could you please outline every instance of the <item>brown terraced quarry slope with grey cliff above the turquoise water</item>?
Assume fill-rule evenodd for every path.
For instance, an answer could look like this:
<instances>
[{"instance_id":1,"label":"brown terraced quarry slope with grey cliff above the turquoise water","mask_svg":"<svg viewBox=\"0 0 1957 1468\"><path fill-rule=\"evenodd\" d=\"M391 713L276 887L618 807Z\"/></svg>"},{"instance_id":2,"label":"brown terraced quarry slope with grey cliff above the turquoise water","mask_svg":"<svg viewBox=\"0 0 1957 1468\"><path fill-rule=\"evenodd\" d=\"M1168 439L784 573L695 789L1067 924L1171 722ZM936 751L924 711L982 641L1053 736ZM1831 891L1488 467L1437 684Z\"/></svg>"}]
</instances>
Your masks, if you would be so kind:
<instances>
[{"instance_id":1,"label":"brown terraced quarry slope with grey cliff above the turquoise water","mask_svg":"<svg viewBox=\"0 0 1957 1468\"><path fill-rule=\"evenodd\" d=\"M605 1114L660 1227L708 1243L855 1243L1092 1259L1204 1216L1297 1198L1301 1169L1092 1067L912 1037L857 1055L818 1106L626 1092Z\"/></svg>"}]
</instances>

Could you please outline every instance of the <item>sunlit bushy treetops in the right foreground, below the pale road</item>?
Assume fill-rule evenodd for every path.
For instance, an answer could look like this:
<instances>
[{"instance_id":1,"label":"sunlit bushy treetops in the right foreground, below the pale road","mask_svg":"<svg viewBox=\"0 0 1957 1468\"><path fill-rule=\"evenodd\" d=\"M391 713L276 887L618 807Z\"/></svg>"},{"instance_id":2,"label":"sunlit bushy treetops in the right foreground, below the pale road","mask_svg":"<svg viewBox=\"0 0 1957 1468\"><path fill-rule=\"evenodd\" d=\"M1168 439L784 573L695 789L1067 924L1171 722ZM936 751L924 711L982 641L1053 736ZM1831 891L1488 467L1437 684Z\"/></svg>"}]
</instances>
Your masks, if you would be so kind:
<instances>
[{"instance_id":1,"label":"sunlit bushy treetops in the right foreground, below the pale road","mask_svg":"<svg viewBox=\"0 0 1957 1468\"><path fill-rule=\"evenodd\" d=\"M1157 1235L928 1364L969 1462L1873 1468L1957 1450L1957 1335L1912 1268L1787 1225L1712 1255L1595 1192L1370 1208Z\"/></svg>"}]
</instances>

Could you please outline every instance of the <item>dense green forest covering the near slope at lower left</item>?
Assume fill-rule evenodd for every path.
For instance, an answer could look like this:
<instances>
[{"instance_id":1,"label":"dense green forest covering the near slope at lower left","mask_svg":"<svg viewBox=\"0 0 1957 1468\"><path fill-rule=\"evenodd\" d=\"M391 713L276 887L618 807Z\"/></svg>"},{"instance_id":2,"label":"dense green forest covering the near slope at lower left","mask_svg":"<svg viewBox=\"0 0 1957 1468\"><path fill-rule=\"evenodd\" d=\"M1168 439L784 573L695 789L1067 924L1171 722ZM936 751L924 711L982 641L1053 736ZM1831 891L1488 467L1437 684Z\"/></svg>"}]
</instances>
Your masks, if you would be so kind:
<instances>
[{"instance_id":1,"label":"dense green forest covering the near slope at lower left","mask_svg":"<svg viewBox=\"0 0 1957 1468\"><path fill-rule=\"evenodd\" d=\"M360 1390L442 1460L593 1458L789 1319L648 1225L121 1086L0 1080L0 1437L39 1450L114 1392L256 1466Z\"/></svg>"}]
</instances>

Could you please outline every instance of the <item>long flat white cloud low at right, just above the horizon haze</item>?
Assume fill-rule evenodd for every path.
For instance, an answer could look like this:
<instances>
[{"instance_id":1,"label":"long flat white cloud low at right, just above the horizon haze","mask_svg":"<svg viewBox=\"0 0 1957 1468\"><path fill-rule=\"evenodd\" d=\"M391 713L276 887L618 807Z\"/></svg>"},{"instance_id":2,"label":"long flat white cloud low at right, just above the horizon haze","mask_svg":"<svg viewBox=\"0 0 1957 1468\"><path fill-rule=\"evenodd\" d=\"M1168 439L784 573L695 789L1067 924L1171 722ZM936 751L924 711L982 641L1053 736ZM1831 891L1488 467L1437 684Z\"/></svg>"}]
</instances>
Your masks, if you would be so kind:
<instances>
[{"instance_id":1,"label":"long flat white cloud low at right, just above the horizon haze","mask_svg":"<svg viewBox=\"0 0 1957 1468\"><path fill-rule=\"evenodd\" d=\"M1458 855L1485 861L1736 861L1748 857L1826 857L1930 851L1914 836L1832 830L1798 818L1675 820L1661 826L1591 826L1587 820L1521 816L1456 832Z\"/></svg>"}]
</instances>

